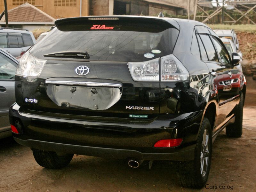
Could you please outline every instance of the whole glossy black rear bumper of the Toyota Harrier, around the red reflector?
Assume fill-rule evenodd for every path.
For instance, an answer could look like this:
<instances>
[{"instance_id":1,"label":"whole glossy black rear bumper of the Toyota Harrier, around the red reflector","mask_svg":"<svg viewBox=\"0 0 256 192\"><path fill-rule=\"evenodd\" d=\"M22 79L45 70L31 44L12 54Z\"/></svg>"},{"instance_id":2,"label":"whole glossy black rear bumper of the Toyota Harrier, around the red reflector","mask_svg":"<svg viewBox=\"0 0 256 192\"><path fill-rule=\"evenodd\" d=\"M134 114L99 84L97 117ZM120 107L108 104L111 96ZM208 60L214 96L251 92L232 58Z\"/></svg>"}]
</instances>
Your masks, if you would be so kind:
<instances>
[{"instance_id":1,"label":"whole glossy black rear bumper of the Toyota Harrier, around the red reflector","mask_svg":"<svg viewBox=\"0 0 256 192\"><path fill-rule=\"evenodd\" d=\"M203 111L164 116L149 124L121 124L63 119L9 111L10 124L21 121L21 134L13 134L21 145L42 150L88 156L143 160L188 161L194 159ZM154 148L158 140L182 138L175 148Z\"/></svg>"}]
</instances>

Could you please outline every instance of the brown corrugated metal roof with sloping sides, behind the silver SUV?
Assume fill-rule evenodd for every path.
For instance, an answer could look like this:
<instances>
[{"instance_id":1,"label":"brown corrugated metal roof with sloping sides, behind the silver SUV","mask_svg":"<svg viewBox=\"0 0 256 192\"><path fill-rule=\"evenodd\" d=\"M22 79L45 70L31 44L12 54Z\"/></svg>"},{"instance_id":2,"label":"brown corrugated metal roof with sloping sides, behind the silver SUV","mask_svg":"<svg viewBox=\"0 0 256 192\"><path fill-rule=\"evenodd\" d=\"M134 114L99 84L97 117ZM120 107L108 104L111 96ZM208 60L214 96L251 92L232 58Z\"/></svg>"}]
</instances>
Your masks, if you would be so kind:
<instances>
[{"instance_id":1,"label":"brown corrugated metal roof with sloping sides, behind the silver SUV","mask_svg":"<svg viewBox=\"0 0 256 192\"><path fill-rule=\"evenodd\" d=\"M54 22L55 19L35 6L25 3L8 11L8 22ZM0 22L5 22L2 17Z\"/></svg>"}]
</instances>

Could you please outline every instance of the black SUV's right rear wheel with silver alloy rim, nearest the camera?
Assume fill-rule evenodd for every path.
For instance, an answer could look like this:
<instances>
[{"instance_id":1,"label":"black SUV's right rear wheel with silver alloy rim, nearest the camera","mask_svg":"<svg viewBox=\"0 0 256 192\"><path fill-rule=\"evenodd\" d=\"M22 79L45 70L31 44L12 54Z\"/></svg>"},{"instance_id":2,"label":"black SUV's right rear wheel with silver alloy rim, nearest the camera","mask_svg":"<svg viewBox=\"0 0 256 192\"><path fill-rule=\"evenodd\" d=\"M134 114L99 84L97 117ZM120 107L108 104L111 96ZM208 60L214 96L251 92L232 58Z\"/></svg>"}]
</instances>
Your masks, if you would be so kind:
<instances>
[{"instance_id":1,"label":"black SUV's right rear wheel with silver alloy rim, nearest the camera","mask_svg":"<svg viewBox=\"0 0 256 192\"><path fill-rule=\"evenodd\" d=\"M193 161L178 162L176 173L180 184L186 188L202 188L209 176L212 158L212 128L204 117L200 126Z\"/></svg>"}]
</instances>

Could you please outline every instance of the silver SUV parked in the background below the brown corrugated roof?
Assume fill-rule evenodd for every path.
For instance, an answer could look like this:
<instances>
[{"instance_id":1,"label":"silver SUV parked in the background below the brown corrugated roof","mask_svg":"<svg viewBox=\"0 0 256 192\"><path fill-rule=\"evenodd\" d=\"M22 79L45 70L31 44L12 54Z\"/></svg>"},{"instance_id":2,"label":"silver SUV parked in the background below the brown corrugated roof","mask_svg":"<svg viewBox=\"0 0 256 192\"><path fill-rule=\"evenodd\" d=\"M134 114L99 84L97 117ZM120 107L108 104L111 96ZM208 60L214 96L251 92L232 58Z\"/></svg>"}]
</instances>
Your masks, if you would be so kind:
<instances>
[{"instance_id":1,"label":"silver SUV parked in the background below the brown corrugated roof","mask_svg":"<svg viewBox=\"0 0 256 192\"><path fill-rule=\"evenodd\" d=\"M10 53L13 57L20 56L36 43L32 32L20 28L0 28L0 48Z\"/></svg>"}]
</instances>

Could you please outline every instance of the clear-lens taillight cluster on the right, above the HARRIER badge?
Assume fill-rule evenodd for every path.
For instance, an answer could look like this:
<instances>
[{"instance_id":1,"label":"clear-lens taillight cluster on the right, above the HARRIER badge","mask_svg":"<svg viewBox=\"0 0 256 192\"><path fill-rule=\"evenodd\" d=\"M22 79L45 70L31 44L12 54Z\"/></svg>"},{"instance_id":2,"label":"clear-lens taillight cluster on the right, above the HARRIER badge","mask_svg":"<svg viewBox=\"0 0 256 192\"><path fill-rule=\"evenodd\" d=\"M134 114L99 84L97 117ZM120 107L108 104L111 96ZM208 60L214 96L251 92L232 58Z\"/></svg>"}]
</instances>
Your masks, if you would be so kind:
<instances>
[{"instance_id":1,"label":"clear-lens taillight cluster on the right, above the HARRIER badge","mask_svg":"<svg viewBox=\"0 0 256 192\"><path fill-rule=\"evenodd\" d=\"M159 64L160 63L160 64ZM167 55L145 62L128 62L134 81L188 81L188 70L174 56Z\"/></svg>"}]
</instances>

